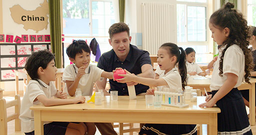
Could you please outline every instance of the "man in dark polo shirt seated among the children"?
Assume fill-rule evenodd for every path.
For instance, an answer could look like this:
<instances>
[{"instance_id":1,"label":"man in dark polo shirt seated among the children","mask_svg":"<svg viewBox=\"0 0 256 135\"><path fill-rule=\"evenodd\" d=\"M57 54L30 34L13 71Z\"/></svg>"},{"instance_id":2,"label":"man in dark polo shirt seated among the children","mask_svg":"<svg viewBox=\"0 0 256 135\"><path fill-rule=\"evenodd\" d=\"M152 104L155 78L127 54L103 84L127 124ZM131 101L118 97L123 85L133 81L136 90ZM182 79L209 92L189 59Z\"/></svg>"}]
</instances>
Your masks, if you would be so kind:
<instances>
[{"instance_id":1,"label":"man in dark polo shirt seated among the children","mask_svg":"<svg viewBox=\"0 0 256 135\"><path fill-rule=\"evenodd\" d=\"M97 66L105 71L112 71L116 67L121 67L138 76L153 78L153 68L149 53L130 44L131 36L129 35L128 25L124 22L114 23L110 26L108 33L110 37L108 42L113 49L100 56ZM135 86L136 95L145 94L146 90L149 88L146 85L138 84L133 81L119 83L110 79L109 83L109 91L118 90L118 95L128 95L127 85ZM103 89L104 95L109 95L105 90L106 78L97 81L96 84L99 89ZM95 125L98 127L101 134L116 134L112 131L112 127L109 123L95 123Z\"/></svg>"}]
</instances>

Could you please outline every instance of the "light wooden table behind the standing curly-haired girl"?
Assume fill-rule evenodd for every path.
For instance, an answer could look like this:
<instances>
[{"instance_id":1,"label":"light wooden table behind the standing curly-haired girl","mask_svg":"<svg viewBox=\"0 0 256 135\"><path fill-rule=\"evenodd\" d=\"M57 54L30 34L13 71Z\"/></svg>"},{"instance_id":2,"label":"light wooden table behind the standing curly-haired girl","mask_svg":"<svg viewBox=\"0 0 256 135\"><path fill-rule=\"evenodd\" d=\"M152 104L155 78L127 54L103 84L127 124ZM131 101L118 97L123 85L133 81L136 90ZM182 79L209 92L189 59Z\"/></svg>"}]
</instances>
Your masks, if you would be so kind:
<instances>
[{"instance_id":1,"label":"light wooden table behind the standing curly-haired girl","mask_svg":"<svg viewBox=\"0 0 256 135\"><path fill-rule=\"evenodd\" d=\"M187 81L187 85L193 87L193 89L199 88L201 91L210 91L210 79L193 79L199 76L190 76ZM250 125L255 124L255 82L256 78L251 78L250 83L242 83L238 86L239 90L249 89L249 122Z\"/></svg>"}]
</instances>

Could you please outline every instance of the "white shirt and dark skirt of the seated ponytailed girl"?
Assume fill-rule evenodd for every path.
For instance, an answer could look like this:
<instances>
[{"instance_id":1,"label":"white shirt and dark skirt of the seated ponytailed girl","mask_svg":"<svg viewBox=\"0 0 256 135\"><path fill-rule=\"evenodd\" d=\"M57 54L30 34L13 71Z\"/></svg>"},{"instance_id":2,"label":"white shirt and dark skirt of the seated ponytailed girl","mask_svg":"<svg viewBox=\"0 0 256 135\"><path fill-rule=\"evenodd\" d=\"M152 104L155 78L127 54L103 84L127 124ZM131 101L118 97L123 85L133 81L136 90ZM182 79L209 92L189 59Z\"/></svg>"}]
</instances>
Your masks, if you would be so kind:
<instances>
[{"instance_id":1,"label":"white shirt and dark skirt of the seated ponytailed girl","mask_svg":"<svg viewBox=\"0 0 256 135\"><path fill-rule=\"evenodd\" d=\"M163 78L167 85L161 87L179 88L182 87L181 76L174 67L164 74L162 72L159 78ZM144 124L139 134L196 134L195 124Z\"/></svg>"}]
</instances>

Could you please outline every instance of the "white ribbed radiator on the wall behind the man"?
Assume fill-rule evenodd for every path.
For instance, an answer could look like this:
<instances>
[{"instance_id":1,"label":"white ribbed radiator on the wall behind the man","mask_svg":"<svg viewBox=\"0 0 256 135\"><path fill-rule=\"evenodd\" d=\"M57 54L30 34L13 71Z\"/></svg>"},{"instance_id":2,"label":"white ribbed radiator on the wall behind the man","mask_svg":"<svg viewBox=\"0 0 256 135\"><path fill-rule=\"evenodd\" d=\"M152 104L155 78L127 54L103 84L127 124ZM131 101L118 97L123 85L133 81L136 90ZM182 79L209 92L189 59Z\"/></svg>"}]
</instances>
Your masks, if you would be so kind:
<instances>
[{"instance_id":1,"label":"white ribbed radiator on the wall behind the man","mask_svg":"<svg viewBox=\"0 0 256 135\"><path fill-rule=\"evenodd\" d=\"M142 3L142 48L157 54L165 42L176 43L176 10L168 3Z\"/></svg>"}]
</instances>

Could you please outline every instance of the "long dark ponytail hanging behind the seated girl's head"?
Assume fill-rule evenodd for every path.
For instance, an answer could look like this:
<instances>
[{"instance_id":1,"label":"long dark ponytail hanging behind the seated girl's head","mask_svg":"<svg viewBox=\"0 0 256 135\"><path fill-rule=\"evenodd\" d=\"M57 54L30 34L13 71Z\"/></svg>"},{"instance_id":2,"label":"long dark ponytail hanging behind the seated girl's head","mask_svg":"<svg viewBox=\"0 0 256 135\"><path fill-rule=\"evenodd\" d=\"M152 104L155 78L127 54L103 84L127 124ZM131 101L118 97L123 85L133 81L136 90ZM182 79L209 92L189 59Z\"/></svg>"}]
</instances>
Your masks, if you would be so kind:
<instances>
[{"instance_id":1,"label":"long dark ponytail hanging behind the seated girl's head","mask_svg":"<svg viewBox=\"0 0 256 135\"><path fill-rule=\"evenodd\" d=\"M178 47L180 50L180 57L178 60L178 69L181 76L182 88L185 89L186 85L186 55L182 47Z\"/></svg>"}]
</instances>

